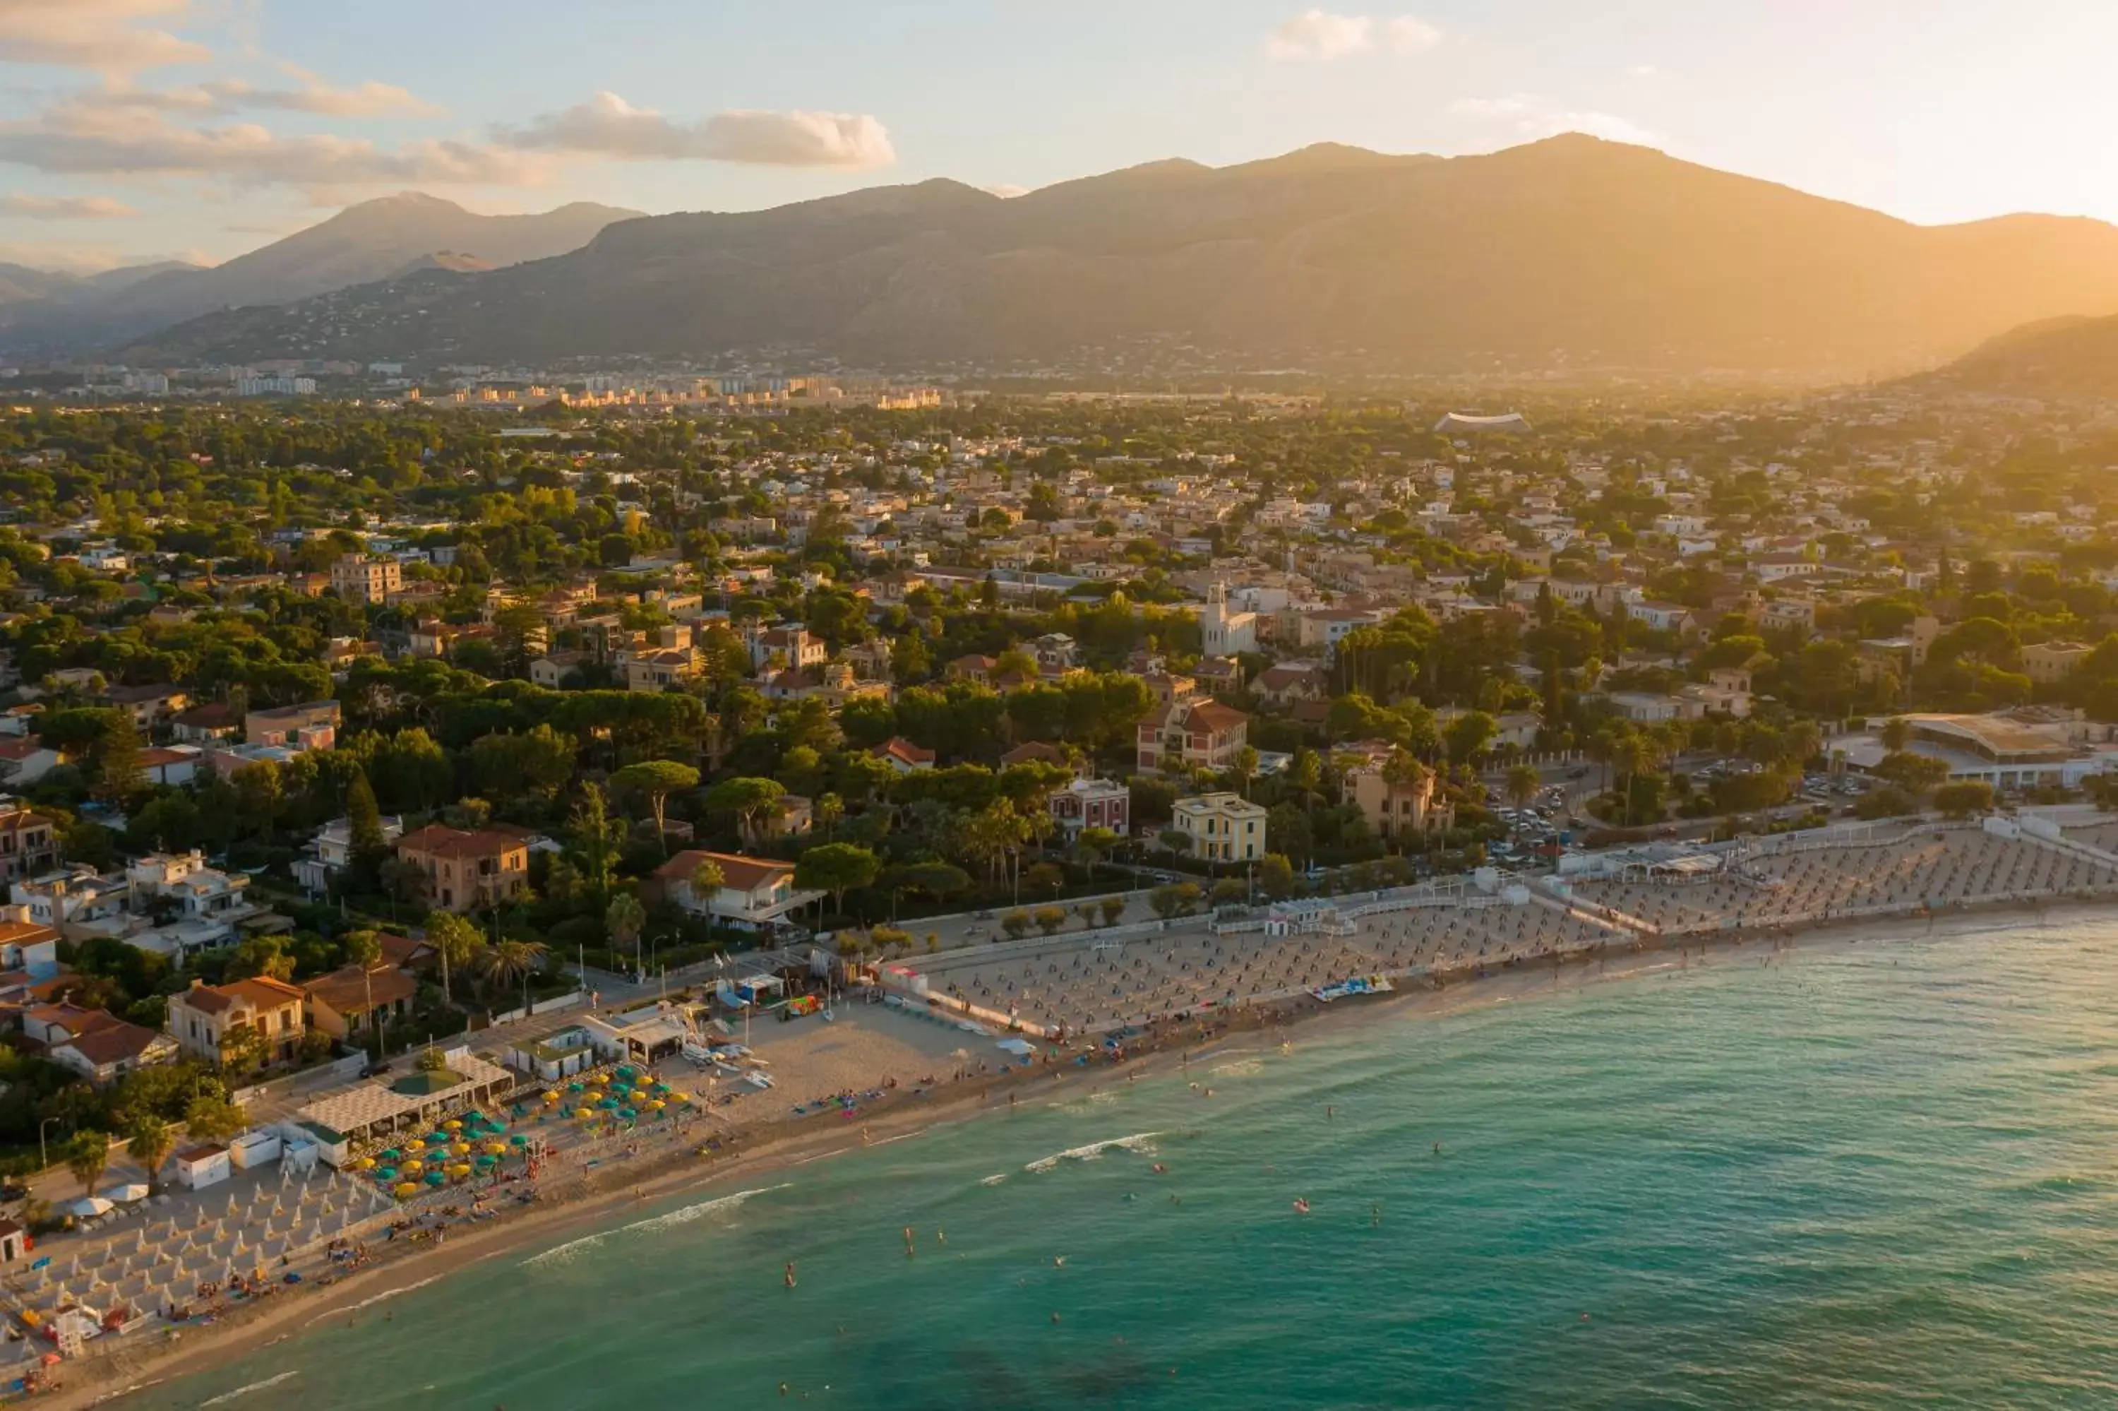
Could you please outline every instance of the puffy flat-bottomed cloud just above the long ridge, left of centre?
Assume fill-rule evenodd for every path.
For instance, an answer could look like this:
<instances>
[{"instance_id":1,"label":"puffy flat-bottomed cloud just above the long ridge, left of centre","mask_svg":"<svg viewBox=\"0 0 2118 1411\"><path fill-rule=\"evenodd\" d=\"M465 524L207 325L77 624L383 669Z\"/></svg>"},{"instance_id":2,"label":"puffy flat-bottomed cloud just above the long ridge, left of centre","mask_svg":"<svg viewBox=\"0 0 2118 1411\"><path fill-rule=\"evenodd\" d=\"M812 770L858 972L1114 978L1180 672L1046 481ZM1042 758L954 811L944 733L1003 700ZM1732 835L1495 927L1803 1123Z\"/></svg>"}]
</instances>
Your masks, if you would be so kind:
<instances>
[{"instance_id":1,"label":"puffy flat-bottomed cloud just above the long ridge, left of centre","mask_svg":"<svg viewBox=\"0 0 2118 1411\"><path fill-rule=\"evenodd\" d=\"M849 112L716 112L676 123L597 93L527 127L502 129L498 142L523 150L595 153L629 161L737 161L769 167L885 167L898 159L890 131Z\"/></svg>"}]
</instances>

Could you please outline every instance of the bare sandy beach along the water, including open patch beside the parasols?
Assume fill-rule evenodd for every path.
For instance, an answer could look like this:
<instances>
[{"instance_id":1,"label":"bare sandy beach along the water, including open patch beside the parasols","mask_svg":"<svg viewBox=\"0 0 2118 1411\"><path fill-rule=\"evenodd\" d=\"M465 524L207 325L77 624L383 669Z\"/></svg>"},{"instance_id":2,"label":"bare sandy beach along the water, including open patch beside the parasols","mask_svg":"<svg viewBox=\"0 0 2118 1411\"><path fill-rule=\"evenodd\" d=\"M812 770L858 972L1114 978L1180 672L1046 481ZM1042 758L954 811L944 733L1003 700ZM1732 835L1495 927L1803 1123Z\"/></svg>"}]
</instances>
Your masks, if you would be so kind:
<instances>
[{"instance_id":1,"label":"bare sandy beach along the water, including open patch beside the parasols","mask_svg":"<svg viewBox=\"0 0 2118 1411\"><path fill-rule=\"evenodd\" d=\"M720 1150L703 1153L697 1140L690 1140L678 1150L648 1155L638 1163L591 1169L585 1178L542 1191L532 1205L508 1208L479 1225L449 1227L445 1244L398 1242L388 1246L377 1263L356 1269L330 1286L284 1288L267 1299L235 1307L210 1326L180 1328L176 1337L157 1343L112 1347L72 1362L61 1369L61 1388L38 1400L53 1407L123 1400L129 1392L225 1364L335 1318L360 1318L364 1309L411 1288L421 1288L455 1269L606 1229L618 1222L627 1210L671 1195L705 1193L722 1182L754 1180L824 1159L858 1159L868 1142L887 1142L936 1125L1006 1121L1010 1093L1038 1087L1099 1085L1125 1070L1163 1072L1186 1059L1209 1057L1216 1044L1239 1032L1262 1028L1290 1028L1292 1032L1292 1025L1303 1025L1326 1013L1336 1015L1341 1025L1406 1021L1644 979L1692 964L1728 964L1745 951L1815 953L1864 943L1972 936L1997 926L2014 928L2025 915L2040 915L2042 924L2063 924L2110 913L2107 907L2095 905L2063 905L2040 911L1974 907L1915 919L1728 930L1709 939L1635 941L1605 947L1599 953L1559 955L1542 964L1449 970L1434 975L1432 983L1423 987L1392 996L1336 1004L1298 998L1228 1008L1205 1021L1161 1025L1148 1040L1131 1044L1123 1064L1036 1064L1010 1072L995 1066L985 1074L972 1070L962 1080L943 1083L917 1095L911 1087L900 1087L883 1102L862 1108L858 1123L828 1114L769 1119L767 1110L786 1112L790 1093L807 1091L790 1087L796 1074L830 1091L843 1083L873 1085L879 1072L898 1074L907 1068L923 1070L928 1066L943 1066L949 1072L955 1051L953 1030L892 1015L881 1006L849 1006L849 1021L784 1025L786 1034L773 1034L769 1042L758 1044L760 1053L771 1055L775 1072L782 1074L782 1087L773 1093L758 1093L756 1100L762 1102L743 1097L737 1104L743 1110L724 1133ZM945 1051L943 1044L949 1049ZM693 1133L693 1138L703 1136L703 1129Z\"/></svg>"}]
</instances>

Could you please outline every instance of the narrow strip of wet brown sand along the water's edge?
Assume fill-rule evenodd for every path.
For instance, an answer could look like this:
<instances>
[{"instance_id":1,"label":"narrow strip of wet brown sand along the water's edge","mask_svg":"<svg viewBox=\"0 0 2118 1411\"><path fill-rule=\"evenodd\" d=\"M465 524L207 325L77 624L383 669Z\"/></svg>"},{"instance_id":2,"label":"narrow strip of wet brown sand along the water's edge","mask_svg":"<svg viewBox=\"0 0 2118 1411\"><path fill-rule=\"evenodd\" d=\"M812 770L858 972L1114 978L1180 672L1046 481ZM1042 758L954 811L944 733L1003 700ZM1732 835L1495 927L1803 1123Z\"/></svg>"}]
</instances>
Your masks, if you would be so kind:
<instances>
[{"instance_id":1,"label":"narrow strip of wet brown sand along the water's edge","mask_svg":"<svg viewBox=\"0 0 2118 1411\"><path fill-rule=\"evenodd\" d=\"M1697 953L1741 951L1754 943L1771 951L1790 949L1853 949L1862 939L1923 941L1966 939L1997 930L1997 917L2035 917L2040 926L2071 924L2110 915L2110 903L2065 898L2052 907L1991 903L1934 911L1929 915L1849 917L1811 926L1726 930L1709 936L1677 936L1669 941L1635 941L1605 947L1601 953L1563 955L1555 964L1512 964L1489 970L1466 968L1430 977L1432 983L1398 989L1364 1002L1320 1002L1313 998L1279 998L1256 1004L1207 1011L1186 1021L1169 1021L1127 1047L1123 1061L1091 1061L1076 1066L1038 1066L966 1078L955 1091L940 1095L898 1095L877 1106L864 1121L866 1138L839 1125L805 1129L807 1119L756 1121L720 1133L724 1150L701 1155L695 1142L646 1159L633 1169L606 1169L570 1180L546 1191L536 1203L498 1214L483 1225L449 1227L441 1246L396 1242L377 1263L354 1269L328 1286L280 1288L269 1299L246 1303L205 1328L180 1328L172 1337L144 1347L116 1347L61 1364L61 1388L36 1396L36 1405L55 1409L123 1405L136 1392L191 1377L263 1347L301 1337L330 1318L354 1318L360 1309L424 1288L489 1258L517 1254L527 1246L580 1237L606 1229L612 1216L629 1208L650 1205L678 1193L707 1191L735 1176L775 1176L782 1172L858 1153L868 1144L887 1144L932 1127L976 1121L991 1112L1010 1112L1000 1093L1034 1091L1036 1085L1061 1091L1082 1080L1103 1083L1120 1072L1159 1072L1169 1064L1211 1057L1233 1034L1286 1030L1324 1015L1339 1015L1341 1025L1381 1023L1385 1019L1423 1019L1457 1011L1508 1004L1525 998L1618 983L1684 968Z\"/></svg>"}]
</instances>

